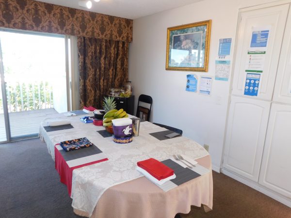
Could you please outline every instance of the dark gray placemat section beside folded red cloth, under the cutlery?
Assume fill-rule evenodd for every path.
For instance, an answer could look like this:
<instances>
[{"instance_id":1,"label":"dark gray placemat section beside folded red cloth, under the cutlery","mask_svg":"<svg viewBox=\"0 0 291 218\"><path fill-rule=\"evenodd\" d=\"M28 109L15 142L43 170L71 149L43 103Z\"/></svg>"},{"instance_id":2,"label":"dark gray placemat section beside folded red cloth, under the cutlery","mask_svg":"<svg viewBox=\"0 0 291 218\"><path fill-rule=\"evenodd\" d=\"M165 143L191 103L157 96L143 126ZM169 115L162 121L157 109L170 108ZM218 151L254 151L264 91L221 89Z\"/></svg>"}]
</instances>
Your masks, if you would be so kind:
<instances>
[{"instance_id":1,"label":"dark gray placemat section beside folded red cloth, under the cutlery","mask_svg":"<svg viewBox=\"0 0 291 218\"><path fill-rule=\"evenodd\" d=\"M171 159L163 160L161 161L164 165L168 166L172 170L174 170L176 178L171 179L170 181L175 183L177 186L186 183L196 177L199 177L200 174L197 172L194 172L193 170L189 169L188 167L184 168L175 161Z\"/></svg>"}]
</instances>

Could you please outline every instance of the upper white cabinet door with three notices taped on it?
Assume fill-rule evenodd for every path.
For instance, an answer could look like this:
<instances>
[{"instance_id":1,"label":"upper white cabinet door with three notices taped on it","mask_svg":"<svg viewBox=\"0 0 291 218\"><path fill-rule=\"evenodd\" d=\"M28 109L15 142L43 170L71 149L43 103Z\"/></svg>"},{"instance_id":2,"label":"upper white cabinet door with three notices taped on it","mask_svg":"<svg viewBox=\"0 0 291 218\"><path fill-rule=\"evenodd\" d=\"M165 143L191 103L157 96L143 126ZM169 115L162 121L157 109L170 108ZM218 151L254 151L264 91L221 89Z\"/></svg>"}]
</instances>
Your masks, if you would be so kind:
<instances>
[{"instance_id":1,"label":"upper white cabinet door with three notices taped on it","mask_svg":"<svg viewBox=\"0 0 291 218\"><path fill-rule=\"evenodd\" d=\"M244 96L272 100L276 69L288 9L289 4L285 4L241 13L241 22L239 23L240 27L237 36L232 94L243 95L246 76L245 70L248 62L247 51L251 44L254 28L270 28L263 73L261 73L260 79L260 92L258 96L255 97L248 95Z\"/></svg>"}]
</instances>

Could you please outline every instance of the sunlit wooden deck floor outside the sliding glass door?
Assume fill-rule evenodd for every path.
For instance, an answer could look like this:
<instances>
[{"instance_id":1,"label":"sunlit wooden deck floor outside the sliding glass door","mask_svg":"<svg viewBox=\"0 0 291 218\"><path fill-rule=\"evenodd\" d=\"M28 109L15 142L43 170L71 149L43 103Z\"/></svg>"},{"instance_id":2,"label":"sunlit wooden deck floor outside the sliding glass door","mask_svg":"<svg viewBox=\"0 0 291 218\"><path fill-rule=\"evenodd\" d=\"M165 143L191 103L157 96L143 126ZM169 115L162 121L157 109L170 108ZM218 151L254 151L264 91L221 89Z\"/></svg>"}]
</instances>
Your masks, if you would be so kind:
<instances>
[{"instance_id":1,"label":"sunlit wooden deck floor outside the sliding glass door","mask_svg":"<svg viewBox=\"0 0 291 218\"><path fill-rule=\"evenodd\" d=\"M41 121L58 113L55 109L38 109L9 113L11 137L37 134ZM0 114L0 141L6 140L4 114Z\"/></svg>"}]
</instances>

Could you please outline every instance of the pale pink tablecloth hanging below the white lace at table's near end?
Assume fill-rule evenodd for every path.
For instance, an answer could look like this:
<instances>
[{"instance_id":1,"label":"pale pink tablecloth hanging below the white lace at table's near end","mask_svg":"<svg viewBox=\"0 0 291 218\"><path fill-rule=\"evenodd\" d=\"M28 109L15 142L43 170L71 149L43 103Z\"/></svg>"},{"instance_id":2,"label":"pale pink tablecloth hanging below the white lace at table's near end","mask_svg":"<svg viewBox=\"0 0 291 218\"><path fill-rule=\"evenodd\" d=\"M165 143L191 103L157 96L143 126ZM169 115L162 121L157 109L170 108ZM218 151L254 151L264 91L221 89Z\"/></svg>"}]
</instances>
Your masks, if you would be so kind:
<instances>
[{"instance_id":1,"label":"pale pink tablecloth hanging below the white lace at table's near end","mask_svg":"<svg viewBox=\"0 0 291 218\"><path fill-rule=\"evenodd\" d=\"M211 170L210 156L196 161ZM212 209L212 200L212 171L168 192L141 177L107 189L91 218L174 218L178 213L189 213L191 205L204 204ZM86 212L74 212L89 217Z\"/></svg>"}]
</instances>

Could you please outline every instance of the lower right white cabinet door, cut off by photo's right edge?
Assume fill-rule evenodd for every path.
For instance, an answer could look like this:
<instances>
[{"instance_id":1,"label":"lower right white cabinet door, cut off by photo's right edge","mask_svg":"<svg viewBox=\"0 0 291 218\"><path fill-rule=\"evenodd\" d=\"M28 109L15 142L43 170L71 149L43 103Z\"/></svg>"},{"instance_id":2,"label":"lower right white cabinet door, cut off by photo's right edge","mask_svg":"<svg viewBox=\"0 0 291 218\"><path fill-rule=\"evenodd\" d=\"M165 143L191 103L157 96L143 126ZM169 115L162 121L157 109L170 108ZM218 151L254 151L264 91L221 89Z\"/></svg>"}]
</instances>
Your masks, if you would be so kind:
<instances>
[{"instance_id":1,"label":"lower right white cabinet door, cut off by photo's right edge","mask_svg":"<svg viewBox=\"0 0 291 218\"><path fill-rule=\"evenodd\" d=\"M272 104L259 183L291 198L291 106Z\"/></svg>"}]
</instances>

